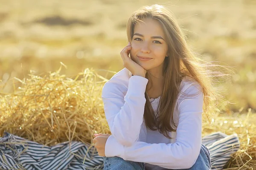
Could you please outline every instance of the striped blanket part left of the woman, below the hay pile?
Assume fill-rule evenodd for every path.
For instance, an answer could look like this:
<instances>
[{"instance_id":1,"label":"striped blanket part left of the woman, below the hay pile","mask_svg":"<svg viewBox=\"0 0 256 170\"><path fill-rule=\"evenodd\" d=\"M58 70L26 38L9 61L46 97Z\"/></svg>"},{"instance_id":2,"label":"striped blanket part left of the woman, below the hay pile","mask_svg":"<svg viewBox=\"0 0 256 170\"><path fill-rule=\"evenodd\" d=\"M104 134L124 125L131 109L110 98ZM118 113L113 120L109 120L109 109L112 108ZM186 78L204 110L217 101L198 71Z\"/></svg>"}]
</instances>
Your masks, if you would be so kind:
<instances>
[{"instance_id":1,"label":"striped blanket part left of the woman, below the hay pile","mask_svg":"<svg viewBox=\"0 0 256 170\"><path fill-rule=\"evenodd\" d=\"M0 169L103 169L102 156L98 155L94 147L88 150L89 147L89 144L75 141L67 141L49 147L10 133L4 133L3 138L0 138Z\"/></svg>"}]
</instances>

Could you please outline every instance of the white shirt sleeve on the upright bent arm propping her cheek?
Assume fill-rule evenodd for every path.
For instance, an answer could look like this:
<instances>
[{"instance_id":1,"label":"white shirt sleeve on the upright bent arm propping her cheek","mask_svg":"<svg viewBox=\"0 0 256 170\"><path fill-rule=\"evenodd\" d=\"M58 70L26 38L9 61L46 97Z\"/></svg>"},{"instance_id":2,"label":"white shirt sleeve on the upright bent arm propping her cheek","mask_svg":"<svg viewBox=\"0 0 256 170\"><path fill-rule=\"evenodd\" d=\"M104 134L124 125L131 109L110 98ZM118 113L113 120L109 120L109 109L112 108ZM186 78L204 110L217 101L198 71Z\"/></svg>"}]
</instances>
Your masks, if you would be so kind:
<instances>
[{"instance_id":1,"label":"white shirt sleeve on the upright bent arm propping her cheek","mask_svg":"<svg viewBox=\"0 0 256 170\"><path fill-rule=\"evenodd\" d=\"M126 95L124 86L119 84L107 82L102 89L104 111L111 134L124 146L131 146L139 138L147 83L148 79L145 77L130 77L128 90L125 87Z\"/></svg>"}]
</instances>

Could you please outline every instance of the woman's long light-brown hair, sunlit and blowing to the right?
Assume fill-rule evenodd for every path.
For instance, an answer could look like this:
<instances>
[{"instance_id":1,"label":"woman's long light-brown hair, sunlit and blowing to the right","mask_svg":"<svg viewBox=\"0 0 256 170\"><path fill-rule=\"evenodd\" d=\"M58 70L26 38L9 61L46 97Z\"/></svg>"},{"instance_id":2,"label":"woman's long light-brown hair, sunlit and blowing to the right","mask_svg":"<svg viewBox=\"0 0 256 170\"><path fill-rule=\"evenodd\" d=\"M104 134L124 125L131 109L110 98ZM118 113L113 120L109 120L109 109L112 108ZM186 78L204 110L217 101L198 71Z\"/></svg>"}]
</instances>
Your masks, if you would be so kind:
<instances>
[{"instance_id":1,"label":"woman's long light-brown hair, sunlit and blowing to the right","mask_svg":"<svg viewBox=\"0 0 256 170\"><path fill-rule=\"evenodd\" d=\"M147 92L145 92L145 111L144 119L145 125L151 130L159 130L169 139L168 131L176 131L176 125L173 119L175 103L177 96L180 93L179 86L181 80L188 76L192 81L198 82L204 94L204 107L203 113L208 122L212 118L213 112L218 112L218 101L224 99L218 94L212 77L222 77L228 74L222 74L217 71L210 71L210 67L224 67L206 62L200 59L196 54L189 49L186 43L186 37L178 26L174 15L168 8L160 5L143 6L135 11L128 19L127 22L127 36L129 42L134 34L134 27L137 22L145 18L157 20L163 27L166 42L168 44L168 54L163 64L163 76L165 78L163 93L160 97L158 105L159 115L154 116L154 111L149 101ZM148 73L146 74L148 77ZM147 85L148 86L148 85ZM170 124L170 122L172 122ZM172 126L174 125L174 126Z\"/></svg>"}]
</instances>

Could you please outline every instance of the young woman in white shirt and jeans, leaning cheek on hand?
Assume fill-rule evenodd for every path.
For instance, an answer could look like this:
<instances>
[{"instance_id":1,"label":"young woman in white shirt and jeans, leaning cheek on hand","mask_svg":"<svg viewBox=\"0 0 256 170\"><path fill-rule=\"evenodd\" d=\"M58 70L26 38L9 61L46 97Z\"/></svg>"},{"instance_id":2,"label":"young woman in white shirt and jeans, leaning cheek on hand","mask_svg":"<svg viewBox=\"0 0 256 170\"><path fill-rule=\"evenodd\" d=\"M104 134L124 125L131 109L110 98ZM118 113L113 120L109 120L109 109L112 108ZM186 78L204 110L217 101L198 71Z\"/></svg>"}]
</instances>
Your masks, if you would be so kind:
<instances>
[{"instance_id":1,"label":"young woman in white shirt and jeans, leaning cheek on hand","mask_svg":"<svg viewBox=\"0 0 256 170\"><path fill-rule=\"evenodd\" d=\"M95 134L105 170L209 170L202 115L218 99L207 70L164 6L128 19L123 66L102 89L109 134ZM130 54L130 57L129 57Z\"/></svg>"}]
</instances>

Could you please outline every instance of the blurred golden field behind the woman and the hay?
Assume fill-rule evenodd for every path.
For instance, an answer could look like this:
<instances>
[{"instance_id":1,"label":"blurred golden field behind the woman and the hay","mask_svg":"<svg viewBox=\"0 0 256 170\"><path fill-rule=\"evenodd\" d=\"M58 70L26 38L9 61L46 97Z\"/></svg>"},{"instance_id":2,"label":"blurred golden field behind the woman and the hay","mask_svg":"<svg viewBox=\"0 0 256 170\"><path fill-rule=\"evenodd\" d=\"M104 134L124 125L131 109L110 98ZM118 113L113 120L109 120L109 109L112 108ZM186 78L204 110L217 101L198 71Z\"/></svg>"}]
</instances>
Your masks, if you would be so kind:
<instances>
[{"instance_id":1,"label":"blurred golden field behind the woman and the hay","mask_svg":"<svg viewBox=\"0 0 256 170\"><path fill-rule=\"evenodd\" d=\"M234 103L223 110L255 111L256 0L0 0L1 93L13 91L13 77L42 76L60 62L69 77L85 68L121 70L128 17L154 3L175 14L195 52L235 71L220 84Z\"/></svg>"}]
</instances>

